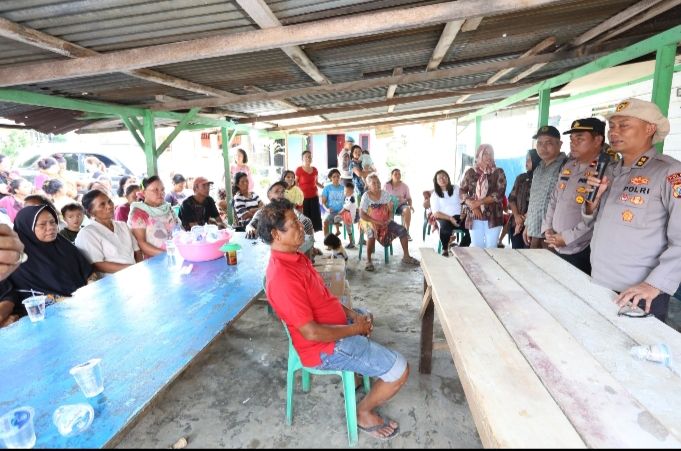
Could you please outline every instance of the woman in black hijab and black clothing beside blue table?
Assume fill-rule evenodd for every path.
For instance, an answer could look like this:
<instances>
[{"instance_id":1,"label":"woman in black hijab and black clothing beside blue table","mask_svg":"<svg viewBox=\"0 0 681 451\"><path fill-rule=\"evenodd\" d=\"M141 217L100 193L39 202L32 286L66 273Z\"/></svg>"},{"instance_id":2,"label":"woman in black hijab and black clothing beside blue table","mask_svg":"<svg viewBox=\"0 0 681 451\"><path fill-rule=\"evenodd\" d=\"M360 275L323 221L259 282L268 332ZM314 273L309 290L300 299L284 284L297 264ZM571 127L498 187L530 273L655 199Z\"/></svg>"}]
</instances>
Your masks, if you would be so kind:
<instances>
[{"instance_id":1,"label":"woman in black hijab and black clothing beside blue table","mask_svg":"<svg viewBox=\"0 0 681 451\"><path fill-rule=\"evenodd\" d=\"M14 231L28 257L10 276L22 298L31 296L31 291L51 297L71 296L87 284L92 265L76 246L59 235L59 219L51 206L22 208L14 220Z\"/></svg>"}]
</instances>

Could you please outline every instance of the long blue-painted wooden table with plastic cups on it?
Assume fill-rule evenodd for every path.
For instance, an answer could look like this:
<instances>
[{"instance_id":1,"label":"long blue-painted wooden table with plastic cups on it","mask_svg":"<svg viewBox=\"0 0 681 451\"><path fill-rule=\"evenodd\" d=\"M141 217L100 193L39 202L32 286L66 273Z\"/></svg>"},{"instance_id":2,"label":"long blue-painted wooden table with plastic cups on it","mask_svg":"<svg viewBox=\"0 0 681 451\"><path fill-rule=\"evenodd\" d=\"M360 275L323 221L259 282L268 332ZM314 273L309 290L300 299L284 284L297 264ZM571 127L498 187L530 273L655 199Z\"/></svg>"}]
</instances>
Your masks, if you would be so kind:
<instances>
[{"instance_id":1,"label":"long blue-painted wooden table with plastic cups on it","mask_svg":"<svg viewBox=\"0 0 681 451\"><path fill-rule=\"evenodd\" d=\"M24 318L0 329L0 415L32 406L38 448L114 446L262 291L269 246L243 233L232 242L242 245L236 266L221 258L193 263L181 275L161 254L48 307L42 322ZM104 392L87 399L69 369L95 357L102 359ZM90 428L59 435L55 409L88 402L95 409Z\"/></svg>"}]
</instances>

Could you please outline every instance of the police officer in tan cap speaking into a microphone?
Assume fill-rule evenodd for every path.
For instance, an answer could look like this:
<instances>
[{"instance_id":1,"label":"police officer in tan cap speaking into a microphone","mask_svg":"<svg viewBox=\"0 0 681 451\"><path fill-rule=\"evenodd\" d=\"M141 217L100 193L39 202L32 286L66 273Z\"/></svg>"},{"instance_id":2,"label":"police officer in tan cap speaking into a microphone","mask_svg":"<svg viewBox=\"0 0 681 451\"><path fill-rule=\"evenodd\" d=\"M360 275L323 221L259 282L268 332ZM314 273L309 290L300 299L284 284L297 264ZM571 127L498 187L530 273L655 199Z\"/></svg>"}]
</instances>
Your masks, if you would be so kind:
<instances>
[{"instance_id":1,"label":"police officer in tan cap speaking into a microphone","mask_svg":"<svg viewBox=\"0 0 681 451\"><path fill-rule=\"evenodd\" d=\"M589 179L598 186L584 208L586 221L595 216L591 274L619 293L620 306L638 305L664 321L681 282L681 162L653 147L669 133L657 105L627 99L607 118L622 160L600 184Z\"/></svg>"}]
</instances>

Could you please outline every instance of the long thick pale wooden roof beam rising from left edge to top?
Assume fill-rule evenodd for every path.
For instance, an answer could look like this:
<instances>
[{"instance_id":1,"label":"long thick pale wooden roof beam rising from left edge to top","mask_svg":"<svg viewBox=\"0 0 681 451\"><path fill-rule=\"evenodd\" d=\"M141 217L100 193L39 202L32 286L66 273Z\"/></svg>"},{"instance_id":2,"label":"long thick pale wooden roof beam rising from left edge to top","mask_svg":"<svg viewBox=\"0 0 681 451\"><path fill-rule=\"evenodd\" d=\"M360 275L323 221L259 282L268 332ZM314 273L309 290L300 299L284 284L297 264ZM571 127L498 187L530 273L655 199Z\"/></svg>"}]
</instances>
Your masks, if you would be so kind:
<instances>
[{"instance_id":1,"label":"long thick pale wooden roof beam rising from left edge to top","mask_svg":"<svg viewBox=\"0 0 681 451\"><path fill-rule=\"evenodd\" d=\"M357 14L263 30L174 42L78 58L0 69L0 86L124 72L184 61L238 55L275 48L388 33L411 28L548 6L559 0L459 0L412 8Z\"/></svg>"}]
</instances>

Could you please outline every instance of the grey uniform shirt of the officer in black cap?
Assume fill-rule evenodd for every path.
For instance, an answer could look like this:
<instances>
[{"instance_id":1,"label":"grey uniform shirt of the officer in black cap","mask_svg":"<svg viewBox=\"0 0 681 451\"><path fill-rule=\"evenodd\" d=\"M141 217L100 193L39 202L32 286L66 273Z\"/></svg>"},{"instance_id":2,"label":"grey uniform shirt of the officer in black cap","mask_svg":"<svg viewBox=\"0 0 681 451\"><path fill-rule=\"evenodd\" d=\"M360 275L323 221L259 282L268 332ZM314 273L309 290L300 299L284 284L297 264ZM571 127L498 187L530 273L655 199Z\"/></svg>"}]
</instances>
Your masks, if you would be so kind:
<instances>
[{"instance_id":1,"label":"grey uniform shirt of the officer in black cap","mask_svg":"<svg viewBox=\"0 0 681 451\"><path fill-rule=\"evenodd\" d=\"M587 195L586 179L596 174L597 163L598 159L589 163L570 159L560 170L541 228L542 233L553 229L561 234L565 246L556 249L560 254L581 252L591 241L593 227L582 220L582 205Z\"/></svg>"}]
</instances>

